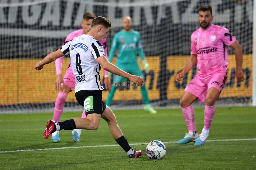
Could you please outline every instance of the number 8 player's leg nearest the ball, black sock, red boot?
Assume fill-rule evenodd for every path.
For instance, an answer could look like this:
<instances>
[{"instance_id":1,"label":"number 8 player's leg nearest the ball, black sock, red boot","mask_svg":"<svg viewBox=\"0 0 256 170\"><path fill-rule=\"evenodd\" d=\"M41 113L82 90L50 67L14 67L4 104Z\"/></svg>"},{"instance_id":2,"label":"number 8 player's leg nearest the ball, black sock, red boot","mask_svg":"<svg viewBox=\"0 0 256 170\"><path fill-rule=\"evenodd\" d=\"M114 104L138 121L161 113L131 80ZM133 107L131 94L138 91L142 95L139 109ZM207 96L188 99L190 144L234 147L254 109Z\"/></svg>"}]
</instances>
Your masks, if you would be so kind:
<instances>
[{"instance_id":1,"label":"number 8 player's leg nearest the ball, black sock, red boot","mask_svg":"<svg viewBox=\"0 0 256 170\"><path fill-rule=\"evenodd\" d=\"M128 144L127 139L124 137L121 129L119 128L119 126L117 124L116 117L115 117L113 111L108 106L106 106L106 109L102 113L102 118L106 122L108 122L109 131L110 131L111 135L116 140L116 142L122 147L122 149L124 149L124 151L127 153L129 158L138 158L142 155L141 150L135 151Z\"/></svg>"}]
</instances>

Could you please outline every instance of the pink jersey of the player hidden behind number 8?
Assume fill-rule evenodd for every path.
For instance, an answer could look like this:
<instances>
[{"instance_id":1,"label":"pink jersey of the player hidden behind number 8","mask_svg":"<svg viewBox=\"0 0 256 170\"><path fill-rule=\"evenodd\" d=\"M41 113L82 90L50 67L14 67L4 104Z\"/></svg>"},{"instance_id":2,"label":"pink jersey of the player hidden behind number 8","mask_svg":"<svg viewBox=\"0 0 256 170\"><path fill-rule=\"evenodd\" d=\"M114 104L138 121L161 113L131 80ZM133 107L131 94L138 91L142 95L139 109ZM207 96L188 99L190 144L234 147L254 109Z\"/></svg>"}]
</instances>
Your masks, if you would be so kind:
<instances>
[{"instance_id":1,"label":"pink jersey of the player hidden behind number 8","mask_svg":"<svg viewBox=\"0 0 256 170\"><path fill-rule=\"evenodd\" d=\"M81 36L83 35L83 29L81 30L76 30L74 32L71 32L67 38L65 39L65 42L62 46L64 46L67 42L71 41L74 37L78 37L78 36ZM101 42L100 42L104 48L104 52L105 52L105 56L106 58L108 58L108 53L107 53L107 40L106 38L103 39ZM56 59L55 61L55 67L56 67L56 73L57 74L61 74L61 67L62 67L62 60L63 60L64 56ZM71 63L69 63L69 65L71 65ZM72 71L72 70L71 70ZM103 73L104 73L104 76L105 75L108 75L108 71L104 70L103 69Z\"/></svg>"}]
</instances>

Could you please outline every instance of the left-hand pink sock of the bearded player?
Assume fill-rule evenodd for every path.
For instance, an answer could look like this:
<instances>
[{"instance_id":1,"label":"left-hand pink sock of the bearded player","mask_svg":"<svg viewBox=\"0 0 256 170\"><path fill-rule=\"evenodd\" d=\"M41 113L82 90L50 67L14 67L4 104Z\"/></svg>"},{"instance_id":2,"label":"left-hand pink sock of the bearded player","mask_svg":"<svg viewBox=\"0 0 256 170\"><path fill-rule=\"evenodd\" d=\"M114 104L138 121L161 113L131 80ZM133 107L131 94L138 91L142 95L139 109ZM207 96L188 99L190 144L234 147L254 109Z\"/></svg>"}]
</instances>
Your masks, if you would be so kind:
<instances>
[{"instance_id":1,"label":"left-hand pink sock of the bearded player","mask_svg":"<svg viewBox=\"0 0 256 170\"><path fill-rule=\"evenodd\" d=\"M188 132L196 131L195 111L193 106L182 107L181 110L188 127Z\"/></svg>"}]
</instances>

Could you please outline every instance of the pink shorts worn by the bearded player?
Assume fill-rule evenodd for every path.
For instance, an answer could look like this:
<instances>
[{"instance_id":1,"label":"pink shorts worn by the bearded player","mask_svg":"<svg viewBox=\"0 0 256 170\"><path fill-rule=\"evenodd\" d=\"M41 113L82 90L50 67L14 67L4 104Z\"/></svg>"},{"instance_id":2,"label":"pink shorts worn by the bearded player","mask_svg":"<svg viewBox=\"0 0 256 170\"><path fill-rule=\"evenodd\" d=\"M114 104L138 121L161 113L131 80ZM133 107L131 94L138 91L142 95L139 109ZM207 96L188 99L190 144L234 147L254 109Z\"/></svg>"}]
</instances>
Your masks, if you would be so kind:
<instances>
[{"instance_id":1,"label":"pink shorts worn by the bearded player","mask_svg":"<svg viewBox=\"0 0 256 170\"><path fill-rule=\"evenodd\" d=\"M186 86L186 92L192 93L198 97L197 101L204 102L206 93L210 88L216 88L221 93L227 82L227 71L218 72L212 75L199 75L196 76ZM217 100L220 100L220 95Z\"/></svg>"}]
</instances>

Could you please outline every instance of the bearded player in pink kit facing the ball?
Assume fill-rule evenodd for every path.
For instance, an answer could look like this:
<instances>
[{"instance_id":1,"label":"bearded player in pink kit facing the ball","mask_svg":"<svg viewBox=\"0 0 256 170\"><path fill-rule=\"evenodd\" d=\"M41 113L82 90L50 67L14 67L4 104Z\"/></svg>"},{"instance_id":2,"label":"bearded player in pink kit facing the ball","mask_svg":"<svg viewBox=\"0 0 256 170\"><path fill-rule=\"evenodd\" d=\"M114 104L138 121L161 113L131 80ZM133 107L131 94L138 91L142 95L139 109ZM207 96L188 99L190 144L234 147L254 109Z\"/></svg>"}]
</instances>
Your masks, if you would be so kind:
<instances>
[{"instance_id":1,"label":"bearded player in pink kit facing the ball","mask_svg":"<svg viewBox=\"0 0 256 170\"><path fill-rule=\"evenodd\" d=\"M177 141L177 144L195 142L195 145L204 145L207 140L216 111L215 101L219 100L220 93L227 82L227 46L235 50L237 82L244 80L242 47L228 29L212 24L212 20L211 6L200 7L198 21L201 27L191 35L190 58L182 72L176 76L176 81L180 83L181 78L198 62L199 71L186 86L180 99L189 133ZM195 111L192 106L195 100L205 101L204 128L200 135L196 130Z\"/></svg>"}]
</instances>

